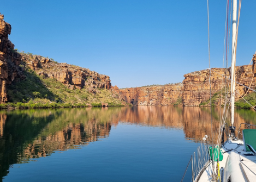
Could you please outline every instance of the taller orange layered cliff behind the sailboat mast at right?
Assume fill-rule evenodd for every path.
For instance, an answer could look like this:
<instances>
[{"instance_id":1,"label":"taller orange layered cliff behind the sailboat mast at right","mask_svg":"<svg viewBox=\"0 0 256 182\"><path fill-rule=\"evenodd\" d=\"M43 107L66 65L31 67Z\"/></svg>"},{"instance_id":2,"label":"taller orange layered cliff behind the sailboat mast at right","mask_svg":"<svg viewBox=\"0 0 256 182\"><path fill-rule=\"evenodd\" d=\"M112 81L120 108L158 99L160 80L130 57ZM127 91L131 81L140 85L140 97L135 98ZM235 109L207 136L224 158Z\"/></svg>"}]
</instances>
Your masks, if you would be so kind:
<instances>
[{"instance_id":1,"label":"taller orange layered cliff behind the sailboat mast at right","mask_svg":"<svg viewBox=\"0 0 256 182\"><path fill-rule=\"evenodd\" d=\"M211 94L220 91L225 85L230 89L230 80L225 79L225 77L230 77L230 68L211 68ZM201 70L193 73L188 73L184 75L185 79L183 80L183 88L182 88L182 103L184 106L198 106L200 103L206 101L210 98L210 71L209 70ZM250 86L251 89L255 87L256 79L253 78L253 67L252 65L245 66L236 66L236 81L245 85ZM236 99L241 98L241 96L245 95L247 92L247 88L236 84ZM248 93L252 91L249 90ZM216 101L216 105L220 105L224 103L224 98L218 99Z\"/></svg>"}]
</instances>

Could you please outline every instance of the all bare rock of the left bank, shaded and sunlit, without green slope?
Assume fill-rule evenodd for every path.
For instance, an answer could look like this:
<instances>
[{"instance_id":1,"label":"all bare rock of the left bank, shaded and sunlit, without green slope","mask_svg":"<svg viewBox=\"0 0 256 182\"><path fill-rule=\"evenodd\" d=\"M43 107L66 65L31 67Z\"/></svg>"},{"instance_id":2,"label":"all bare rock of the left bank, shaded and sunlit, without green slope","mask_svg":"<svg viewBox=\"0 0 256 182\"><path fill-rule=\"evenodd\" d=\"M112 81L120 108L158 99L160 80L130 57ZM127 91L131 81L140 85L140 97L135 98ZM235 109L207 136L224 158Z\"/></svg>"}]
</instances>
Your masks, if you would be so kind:
<instances>
[{"instance_id":1,"label":"all bare rock of the left bank, shaded and sunlit, without green slope","mask_svg":"<svg viewBox=\"0 0 256 182\"><path fill-rule=\"evenodd\" d=\"M110 78L104 74L88 68L58 63L40 55L18 52L8 39L10 33L10 24L6 23L0 14L0 103L8 102L7 85L14 80L25 79L27 68L31 68L43 78L56 79L72 90L86 88L89 93L95 95L100 92L99 89L111 89Z\"/></svg>"}]
</instances>

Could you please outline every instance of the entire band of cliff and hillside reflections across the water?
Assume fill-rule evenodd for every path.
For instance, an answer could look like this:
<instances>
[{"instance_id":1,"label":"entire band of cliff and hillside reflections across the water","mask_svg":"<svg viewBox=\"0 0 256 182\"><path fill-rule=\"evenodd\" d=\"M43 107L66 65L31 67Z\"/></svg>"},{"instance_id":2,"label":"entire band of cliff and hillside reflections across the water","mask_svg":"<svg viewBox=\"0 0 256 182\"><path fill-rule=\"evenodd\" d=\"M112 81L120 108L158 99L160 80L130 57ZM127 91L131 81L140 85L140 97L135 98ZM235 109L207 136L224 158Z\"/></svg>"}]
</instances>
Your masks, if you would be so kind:
<instances>
[{"instance_id":1,"label":"entire band of cliff and hillside reflections across the water","mask_svg":"<svg viewBox=\"0 0 256 182\"><path fill-rule=\"evenodd\" d=\"M220 109L213 108L213 130L219 128ZM230 113L227 115L230 121ZM255 123L251 110L236 110L235 125ZM13 164L48 156L56 150L88 145L110 134L120 122L148 127L176 128L190 142L211 133L210 108L137 106L123 108L37 109L0 112L0 175ZM230 123L228 123L230 125Z\"/></svg>"}]
</instances>

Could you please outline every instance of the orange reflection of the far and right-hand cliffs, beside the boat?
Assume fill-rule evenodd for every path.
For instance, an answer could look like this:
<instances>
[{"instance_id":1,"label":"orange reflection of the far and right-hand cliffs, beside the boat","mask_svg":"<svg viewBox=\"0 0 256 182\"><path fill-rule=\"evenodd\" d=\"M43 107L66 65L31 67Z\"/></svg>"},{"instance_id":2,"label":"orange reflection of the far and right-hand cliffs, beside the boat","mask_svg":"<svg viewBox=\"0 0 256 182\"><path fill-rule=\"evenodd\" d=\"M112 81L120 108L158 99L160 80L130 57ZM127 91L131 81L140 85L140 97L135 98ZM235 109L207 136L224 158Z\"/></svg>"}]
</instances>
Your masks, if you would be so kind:
<instances>
[{"instance_id":1,"label":"orange reflection of the far and right-hand cliffs, beside the boat","mask_svg":"<svg viewBox=\"0 0 256 182\"><path fill-rule=\"evenodd\" d=\"M219 113L219 108L212 109L213 131L215 132L219 128ZM246 118L248 115L251 117ZM204 135L211 135L210 108L181 106L138 106L130 109L122 108L119 116L119 121L122 122L138 123L150 125L152 127L182 128L188 140L201 141ZM228 125L230 125L229 116L230 113L227 117ZM235 125L239 127L240 123L253 124L255 117L254 111L236 110Z\"/></svg>"}]
</instances>

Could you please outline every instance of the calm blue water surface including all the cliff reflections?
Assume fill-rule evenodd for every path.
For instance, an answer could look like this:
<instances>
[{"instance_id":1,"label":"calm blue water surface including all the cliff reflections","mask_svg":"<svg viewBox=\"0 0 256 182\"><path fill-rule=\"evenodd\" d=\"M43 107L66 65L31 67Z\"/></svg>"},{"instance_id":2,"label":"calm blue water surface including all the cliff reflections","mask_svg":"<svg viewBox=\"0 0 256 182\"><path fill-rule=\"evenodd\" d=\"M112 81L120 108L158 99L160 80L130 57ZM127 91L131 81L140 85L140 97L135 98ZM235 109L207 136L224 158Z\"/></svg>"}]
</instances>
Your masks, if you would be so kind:
<instances>
[{"instance_id":1,"label":"calm blue water surface including all the cliff reflections","mask_svg":"<svg viewBox=\"0 0 256 182\"><path fill-rule=\"evenodd\" d=\"M213 110L216 130L219 110ZM235 125L256 124L255 113L236 110ZM210 133L210 109L200 107L0 111L0 175L3 181L180 181Z\"/></svg>"}]
</instances>

